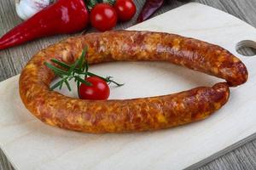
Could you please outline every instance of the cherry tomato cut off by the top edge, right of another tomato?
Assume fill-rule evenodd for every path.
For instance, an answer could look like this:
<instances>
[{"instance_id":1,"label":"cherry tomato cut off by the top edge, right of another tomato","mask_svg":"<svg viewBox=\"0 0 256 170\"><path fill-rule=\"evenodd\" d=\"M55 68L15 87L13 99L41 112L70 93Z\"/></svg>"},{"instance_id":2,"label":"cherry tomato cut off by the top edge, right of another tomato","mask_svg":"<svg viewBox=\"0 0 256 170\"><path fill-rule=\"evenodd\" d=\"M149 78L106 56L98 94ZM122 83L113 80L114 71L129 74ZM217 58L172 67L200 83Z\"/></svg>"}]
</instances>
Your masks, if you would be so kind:
<instances>
[{"instance_id":1,"label":"cherry tomato cut off by the top edge, right of another tomato","mask_svg":"<svg viewBox=\"0 0 256 170\"><path fill-rule=\"evenodd\" d=\"M114 8L118 14L119 20L126 21L136 13L136 6L132 0L117 0Z\"/></svg>"}]
</instances>

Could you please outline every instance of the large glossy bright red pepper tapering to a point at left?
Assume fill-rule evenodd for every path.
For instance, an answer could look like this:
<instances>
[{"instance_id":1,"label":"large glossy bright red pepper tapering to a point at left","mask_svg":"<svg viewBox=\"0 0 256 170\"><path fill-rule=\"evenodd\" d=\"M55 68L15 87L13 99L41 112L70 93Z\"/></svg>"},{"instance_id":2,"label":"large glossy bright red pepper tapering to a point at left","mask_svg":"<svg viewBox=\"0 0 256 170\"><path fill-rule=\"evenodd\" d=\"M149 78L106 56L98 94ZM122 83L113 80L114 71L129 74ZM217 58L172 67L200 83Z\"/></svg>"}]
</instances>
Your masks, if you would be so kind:
<instances>
[{"instance_id":1,"label":"large glossy bright red pepper tapering to a point at left","mask_svg":"<svg viewBox=\"0 0 256 170\"><path fill-rule=\"evenodd\" d=\"M88 21L84 0L58 0L1 37L0 50L39 37L82 31Z\"/></svg>"}]
</instances>

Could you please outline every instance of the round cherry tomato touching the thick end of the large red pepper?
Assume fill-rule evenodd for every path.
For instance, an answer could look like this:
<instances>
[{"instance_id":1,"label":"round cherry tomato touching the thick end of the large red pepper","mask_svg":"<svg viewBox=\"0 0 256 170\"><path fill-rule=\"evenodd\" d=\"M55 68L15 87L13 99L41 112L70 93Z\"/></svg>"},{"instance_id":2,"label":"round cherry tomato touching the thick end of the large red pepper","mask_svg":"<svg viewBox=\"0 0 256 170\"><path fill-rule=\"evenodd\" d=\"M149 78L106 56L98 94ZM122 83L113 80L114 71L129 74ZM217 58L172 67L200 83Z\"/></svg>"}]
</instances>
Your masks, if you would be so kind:
<instances>
[{"instance_id":1,"label":"round cherry tomato touching the thick end of the large red pepper","mask_svg":"<svg viewBox=\"0 0 256 170\"><path fill-rule=\"evenodd\" d=\"M98 3L90 11L90 23L99 31L111 30L117 22L117 14L108 3Z\"/></svg>"}]
</instances>

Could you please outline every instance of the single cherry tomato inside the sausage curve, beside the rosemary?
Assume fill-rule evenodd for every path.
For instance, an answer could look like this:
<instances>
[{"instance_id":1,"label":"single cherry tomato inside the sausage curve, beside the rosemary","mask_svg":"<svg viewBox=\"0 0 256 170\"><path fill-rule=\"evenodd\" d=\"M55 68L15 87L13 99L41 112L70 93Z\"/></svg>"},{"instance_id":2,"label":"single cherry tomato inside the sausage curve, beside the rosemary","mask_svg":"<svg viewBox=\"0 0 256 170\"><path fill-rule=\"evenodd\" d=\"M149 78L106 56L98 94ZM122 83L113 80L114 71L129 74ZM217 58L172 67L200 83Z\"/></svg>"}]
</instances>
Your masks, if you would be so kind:
<instances>
[{"instance_id":1,"label":"single cherry tomato inside the sausage curve, beside the rosemary","mask_svg":"<svg viewBox=\"0 0 256 170\"><path fill-rule=\"evenodd\" d=\"M79 97L81 99L108 99L110 89L108 83L102 80L100 77L88 77L87 82L90 82L92 86L81 84L79 87Z\"/></svg>"}]
</instances>

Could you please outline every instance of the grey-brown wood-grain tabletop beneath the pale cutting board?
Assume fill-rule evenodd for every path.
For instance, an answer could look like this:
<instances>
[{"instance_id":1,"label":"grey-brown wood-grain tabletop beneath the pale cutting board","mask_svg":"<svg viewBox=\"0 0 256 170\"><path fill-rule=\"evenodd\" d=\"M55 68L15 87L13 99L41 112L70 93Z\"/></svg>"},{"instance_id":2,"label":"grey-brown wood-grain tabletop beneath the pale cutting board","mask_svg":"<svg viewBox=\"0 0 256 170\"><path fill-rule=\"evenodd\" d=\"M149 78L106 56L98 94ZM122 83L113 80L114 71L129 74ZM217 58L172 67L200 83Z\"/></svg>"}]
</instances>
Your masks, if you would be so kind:
<instances>
[{"instance_id":1,"label":"grey-brown wood-grain tabletop beneath the pale cutting board","mask_svg":"<svg viewBox=\"0 0 256 170\"><path fill-rule=\"evenodd\" d=\"M145 0L134 1L136 2L137 9L139 11ZM178 6L183 5L184 2L185 1L182 3L177 2L176 0L167 0L166 5L155 15L162 14L172 8L177 8ZM256 0L194 0L190 2L204 3L214 8L219 8L256 27ZM135 17L135 19L136 18L137 17ZM119 24L117 29L127 28L134 25L136 23L135 19L124 24ZM20 22L21 20L15 14L15 0L1 0L0 36ZM21 68L26 64L28 59L31 58L32 54L35 54L39 49L46 47L50 43L59 41L63 37L67 36L43 38L17 48L0 51L0 82L19 74ZM243 51L243 53L251 54L255 53L255 50L254 52L247 50ZM0 150L0 170L10 169L13 169L13 167ZM244 139L239 144L230 146L226 150L223 150L206 160L196 163L194 166L189 167L189 169L256 169L256 135L253 135L248 139Z\"/></svg>"}]
</instances>

